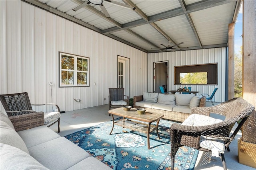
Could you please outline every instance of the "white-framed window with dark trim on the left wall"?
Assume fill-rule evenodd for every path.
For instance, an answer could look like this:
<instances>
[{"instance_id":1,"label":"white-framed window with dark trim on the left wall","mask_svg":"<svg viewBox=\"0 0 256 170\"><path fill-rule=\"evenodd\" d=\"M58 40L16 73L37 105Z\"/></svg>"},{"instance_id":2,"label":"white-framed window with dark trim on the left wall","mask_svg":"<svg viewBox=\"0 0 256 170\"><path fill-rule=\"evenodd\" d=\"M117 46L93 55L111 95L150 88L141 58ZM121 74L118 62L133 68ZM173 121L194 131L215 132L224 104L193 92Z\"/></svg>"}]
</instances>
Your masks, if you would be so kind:
<instances>
[{"instance_id":1,"label":"white-framed window with dark trim on the left wall","mask_svg":"<svg viewBox=\"0 0 256 170\"><path fill-rule=\"evenodd\" d=\"M59 52L60 87L89 86L89 58Z\"/></svg>"}]
</instances>

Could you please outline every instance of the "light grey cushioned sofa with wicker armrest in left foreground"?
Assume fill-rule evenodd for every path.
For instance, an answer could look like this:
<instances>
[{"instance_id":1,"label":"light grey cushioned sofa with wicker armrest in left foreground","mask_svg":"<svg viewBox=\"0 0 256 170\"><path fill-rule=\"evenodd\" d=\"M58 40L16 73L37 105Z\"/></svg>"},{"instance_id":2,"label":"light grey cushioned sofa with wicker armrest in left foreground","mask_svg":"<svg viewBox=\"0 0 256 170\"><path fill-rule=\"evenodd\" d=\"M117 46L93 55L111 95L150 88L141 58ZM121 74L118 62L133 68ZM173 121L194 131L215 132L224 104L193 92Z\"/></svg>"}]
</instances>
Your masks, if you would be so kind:
<instances>
[{"instance_id":1,"label":"light grey cushioned sofa with wicker armrest in left foreground","mask_svg":"<svg viewBox=\"0 0 256 170\"><path fill-rule=\"evenodd\" d=\"M44 113L0 113L0 169L111 169L44 125Z\"/></svg>"}]
</instances>

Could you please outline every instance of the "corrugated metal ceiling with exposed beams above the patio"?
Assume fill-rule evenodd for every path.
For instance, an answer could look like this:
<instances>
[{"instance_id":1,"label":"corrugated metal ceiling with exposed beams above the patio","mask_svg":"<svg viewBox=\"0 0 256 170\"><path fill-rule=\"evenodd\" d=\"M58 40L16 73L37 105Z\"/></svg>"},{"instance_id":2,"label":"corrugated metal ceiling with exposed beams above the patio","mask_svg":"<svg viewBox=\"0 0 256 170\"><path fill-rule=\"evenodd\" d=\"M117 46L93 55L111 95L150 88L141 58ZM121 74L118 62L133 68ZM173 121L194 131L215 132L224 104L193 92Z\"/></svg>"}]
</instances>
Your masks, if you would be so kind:
<instances>
[{"instance_id":1,"label":"corrugated metal ceiling with exposed beams above the patio","mask_svg":"<svg viewBox=\"0 0 256 170\"><path fill-rule=\"evenodd\" d=\"M228 24L235 22L241 4L240 0L103 0L102 8L92 4L99 0L24 1L146 53L226 47ZM80 4L84 6L72 10Z\"/></svg>"}]
</instances>

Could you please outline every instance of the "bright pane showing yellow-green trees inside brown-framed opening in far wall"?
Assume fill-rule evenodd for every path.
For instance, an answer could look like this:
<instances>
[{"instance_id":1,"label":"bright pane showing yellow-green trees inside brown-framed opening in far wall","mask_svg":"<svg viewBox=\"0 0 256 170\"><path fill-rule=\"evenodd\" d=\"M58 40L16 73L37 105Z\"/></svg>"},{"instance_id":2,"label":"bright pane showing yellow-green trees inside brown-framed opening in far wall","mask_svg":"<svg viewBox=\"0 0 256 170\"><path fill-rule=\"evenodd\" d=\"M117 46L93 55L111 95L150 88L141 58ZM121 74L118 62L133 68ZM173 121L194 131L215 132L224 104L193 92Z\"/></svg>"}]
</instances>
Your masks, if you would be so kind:
<instances>
[{"instance_id":1,"label":"bright pane showing yellow-green trees inside brown-framed opening in far wall","mask_svg":"<svg viewBox=\"0 0 256 170\"><path fill-rule=\"evenodd\" d=\"M207 72L180 73L181 84L207 84Z\"/></svg>"}]
</instances>

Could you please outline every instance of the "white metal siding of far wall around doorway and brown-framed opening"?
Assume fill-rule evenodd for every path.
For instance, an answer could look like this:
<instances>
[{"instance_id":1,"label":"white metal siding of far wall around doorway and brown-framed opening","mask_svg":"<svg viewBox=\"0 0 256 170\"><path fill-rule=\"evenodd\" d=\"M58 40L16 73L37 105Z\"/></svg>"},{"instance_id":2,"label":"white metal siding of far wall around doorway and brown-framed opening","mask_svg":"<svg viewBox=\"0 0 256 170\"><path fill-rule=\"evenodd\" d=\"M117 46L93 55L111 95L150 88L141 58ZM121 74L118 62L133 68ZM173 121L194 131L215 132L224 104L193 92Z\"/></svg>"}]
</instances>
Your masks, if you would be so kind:
<instances>
[{"instance_id":1,"label":"white metal siding of far wall around doorway and brown-framed opening","mask_svg":"<svg viewBox=\"0 0 256 170\"><path fill-rule=\"evenodd\" d=\"M191 87L193 91L199 91L199 94L212 94L214 88L218 88L213 100L225 101L226 48L148 54L148 92L153 92L153 63L167 60L169 61L169 90L179 88L174 85L174 66L218 63L218 85L192 85Z\"/></svg>"}]
</instances>

